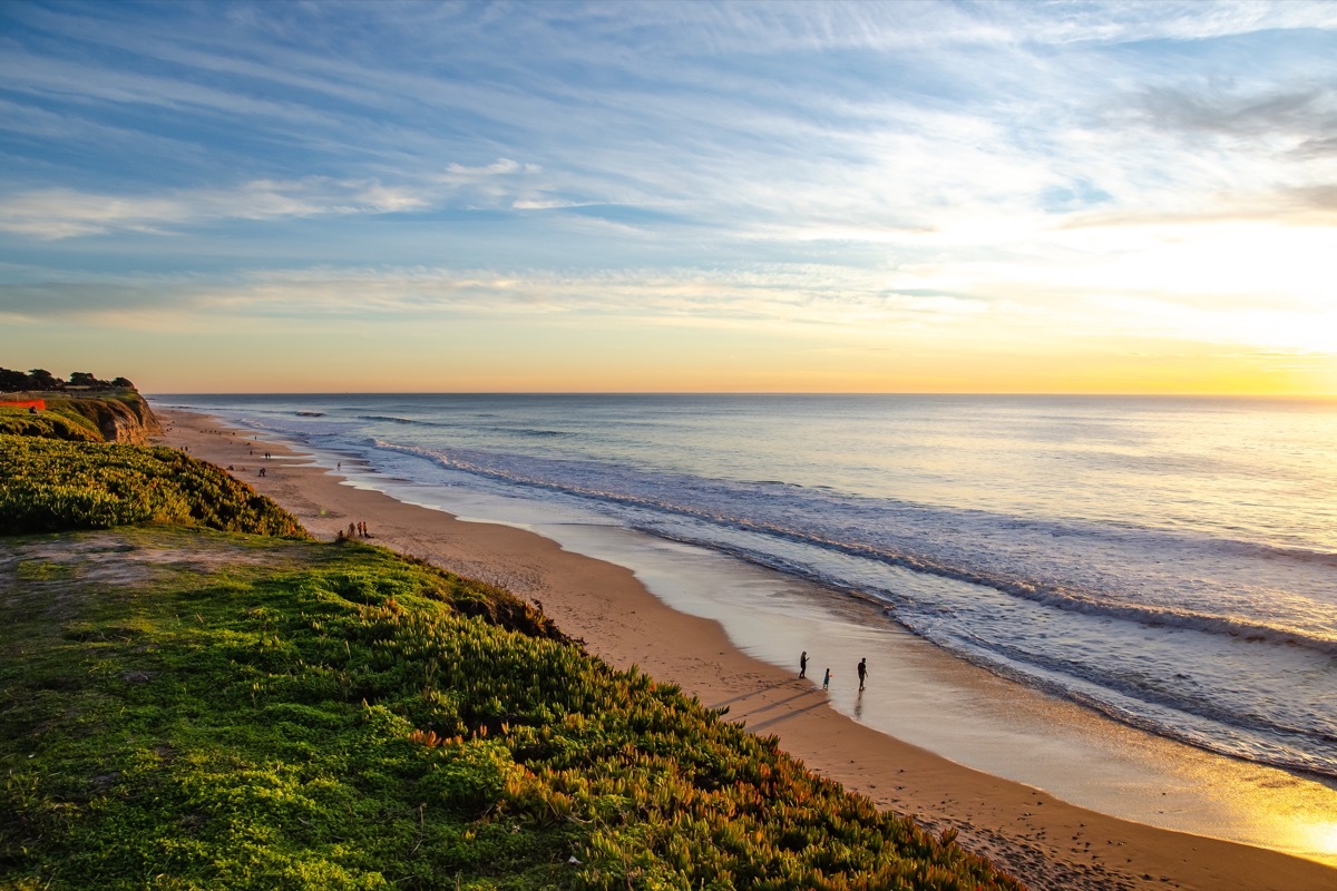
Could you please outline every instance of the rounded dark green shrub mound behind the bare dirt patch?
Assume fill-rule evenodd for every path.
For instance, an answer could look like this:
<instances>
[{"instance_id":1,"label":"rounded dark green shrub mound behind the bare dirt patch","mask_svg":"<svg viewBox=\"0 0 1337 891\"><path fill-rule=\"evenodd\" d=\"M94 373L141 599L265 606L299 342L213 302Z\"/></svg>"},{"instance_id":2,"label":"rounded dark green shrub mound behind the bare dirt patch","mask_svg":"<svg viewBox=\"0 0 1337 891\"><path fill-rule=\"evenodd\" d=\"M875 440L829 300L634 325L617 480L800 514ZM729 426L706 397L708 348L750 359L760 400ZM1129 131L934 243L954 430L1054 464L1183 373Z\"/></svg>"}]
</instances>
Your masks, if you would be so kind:
<instances>
[{"instance_id":1,"label":"rounded dark green shrub mound behind the bare dirt patch","mask_svg":"<svg viewBox=\"0 0 1337 891\"><path fill-rule=\"evenodd\" d=\"M144 522L306 536L269 498L174 449L0 435L0 534Z\"/></svg>"}]
</instances>

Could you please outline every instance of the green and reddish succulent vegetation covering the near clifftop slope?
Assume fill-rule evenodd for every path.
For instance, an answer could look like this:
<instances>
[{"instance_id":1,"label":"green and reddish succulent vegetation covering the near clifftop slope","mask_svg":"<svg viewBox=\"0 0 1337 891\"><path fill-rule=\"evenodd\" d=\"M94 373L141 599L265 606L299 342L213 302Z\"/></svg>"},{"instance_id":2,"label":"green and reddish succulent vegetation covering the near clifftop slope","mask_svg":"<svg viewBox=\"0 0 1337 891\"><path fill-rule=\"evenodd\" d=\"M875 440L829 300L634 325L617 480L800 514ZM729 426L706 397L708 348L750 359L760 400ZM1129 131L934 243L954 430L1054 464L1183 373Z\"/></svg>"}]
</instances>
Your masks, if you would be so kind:
<instances>
[{"instance_id":1,"label":"green and reddish succulent vegetation covering the near clifftop slope","mask_svg":"<svg viewBox=\"0 0 1337 891\"><path fill-rule=\"evenodd\" d=\"M0 538L0 888L1021 887L508 592L254 534L168 450L35 442L0 517L82 530ZM103 528L40 492L62 464L198 476L148 512L190 525Z\"/></svg>"}]
</instances>

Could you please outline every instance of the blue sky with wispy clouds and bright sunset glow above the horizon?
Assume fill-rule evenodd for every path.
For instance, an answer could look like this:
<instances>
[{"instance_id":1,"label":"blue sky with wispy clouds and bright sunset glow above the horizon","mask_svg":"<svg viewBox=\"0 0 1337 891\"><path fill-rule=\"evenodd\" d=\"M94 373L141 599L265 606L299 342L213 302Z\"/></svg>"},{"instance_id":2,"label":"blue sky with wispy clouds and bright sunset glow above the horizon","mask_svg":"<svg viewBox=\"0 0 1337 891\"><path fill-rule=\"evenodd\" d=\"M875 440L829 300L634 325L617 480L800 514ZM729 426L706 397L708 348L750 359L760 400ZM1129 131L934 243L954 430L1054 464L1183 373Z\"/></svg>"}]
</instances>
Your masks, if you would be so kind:
<instances>
[{"instance_id":1,"label":"blue sky with wispy clouds and bright sunset glow above the horizon","mask_svg":"<svg viewBox=\"0 0 1337 891\"><path fill-rule=\"evenodd\" d=\"M1337 393L1337 3L0 0L0 366Z\"/></svg>"}]
</instances>

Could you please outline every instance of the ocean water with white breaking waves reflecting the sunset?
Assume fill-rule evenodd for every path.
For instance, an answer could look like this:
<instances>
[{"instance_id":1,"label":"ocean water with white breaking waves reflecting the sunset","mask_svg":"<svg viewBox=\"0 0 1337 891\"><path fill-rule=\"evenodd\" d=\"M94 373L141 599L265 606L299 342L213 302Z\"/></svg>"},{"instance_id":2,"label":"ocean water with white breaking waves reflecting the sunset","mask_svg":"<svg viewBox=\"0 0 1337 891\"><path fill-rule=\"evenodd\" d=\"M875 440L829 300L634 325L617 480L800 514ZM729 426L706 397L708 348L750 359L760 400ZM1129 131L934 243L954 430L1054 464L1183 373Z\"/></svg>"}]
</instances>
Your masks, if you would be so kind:
<instances>
[{"instance_id":1,"label":"ocean water with white breaking waves reflecting the sunset","mask_svg":"<svg viewBox=\"0 0 1337 891\"><path fill-rule=\"evenodd\" d=\"M155 401L741 557L1124 724L1337 780L1337 402Z\"/></svg>"}]
</instances>

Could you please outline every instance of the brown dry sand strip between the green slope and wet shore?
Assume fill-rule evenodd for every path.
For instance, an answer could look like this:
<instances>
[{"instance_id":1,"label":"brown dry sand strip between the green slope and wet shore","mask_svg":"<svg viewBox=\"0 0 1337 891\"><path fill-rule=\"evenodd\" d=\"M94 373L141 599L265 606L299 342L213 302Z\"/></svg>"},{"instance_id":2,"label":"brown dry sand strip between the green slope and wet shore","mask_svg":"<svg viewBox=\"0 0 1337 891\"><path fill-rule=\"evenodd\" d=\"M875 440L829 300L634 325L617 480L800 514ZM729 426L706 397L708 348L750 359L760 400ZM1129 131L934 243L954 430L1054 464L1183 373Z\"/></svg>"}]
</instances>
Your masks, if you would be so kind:
<instances>
[{"instance_id":1,"label":"brown dry sand strip between the green slope and wet shore","mask_svg":"<svg viewBox=\"0 0 1337 891\"><path fill-rule=\"evenodd\" d=\"M666 606L631 570L524 529L463 522L378 492L214 418L159 410L162 443L189 449L274 498L320 538L365 522L370 542L503 585L618 667L681 684L729 719L774 733L809 768L961 843L1035 888L1322 891L1337 870L1263 848L1161 830L1067 804L973 771L848 717L798 680L730 643L713 621ZM266 460L265 454L273 456ZM261 468L265 476L259 476ZM809 673L822 667L810 667ZM845 673L850 673L845 669ZM842 679L846 683L849 679ZM1333 815L1337 820L1337 815Z\"/></svg>"}]
</instances>

